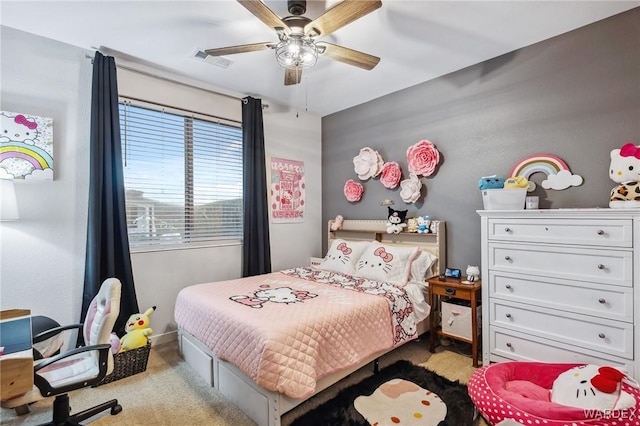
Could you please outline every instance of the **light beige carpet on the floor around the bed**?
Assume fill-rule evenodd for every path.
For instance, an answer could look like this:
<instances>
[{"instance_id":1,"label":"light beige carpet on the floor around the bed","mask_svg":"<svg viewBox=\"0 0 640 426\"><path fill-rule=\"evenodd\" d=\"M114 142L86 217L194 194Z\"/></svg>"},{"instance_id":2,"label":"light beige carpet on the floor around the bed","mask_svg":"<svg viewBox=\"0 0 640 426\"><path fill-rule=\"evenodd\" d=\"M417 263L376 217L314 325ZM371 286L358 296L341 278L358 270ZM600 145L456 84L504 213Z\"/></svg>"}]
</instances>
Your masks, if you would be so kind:
<instances>
[{"instance_id":1,"label":"light beige carpet on the floor around the bed","mask_svg":"<svg viewBox=\"0 0 640 426\"><path fill-rule=\"evenodd\" d=\"M436 354L428 350L428 339L409 342L380 359L380 368L406 359L423 365L451 380L466 382L473 367L471 358L438 348ZM309 401L285 414L284 426L301 413L331 399L340 389L372 374L372 365L363 367L340 383L321 392ZM101 402L117 398L122 412L111 416L109 412L85 421L92 425L212 425L250 426L255 423L234 405L227 402L215 389L207 386L184 362L178 353L177 342L154 346L147 370L97 388L73 391L69 395L71 411L81 411ZM51 420L53 398L30 406L31 413L16 416L13 410L2 408L0 423L7 426L37 425ZM480 423L485 424L485 423Z\"/></svg>"}]
</instances>

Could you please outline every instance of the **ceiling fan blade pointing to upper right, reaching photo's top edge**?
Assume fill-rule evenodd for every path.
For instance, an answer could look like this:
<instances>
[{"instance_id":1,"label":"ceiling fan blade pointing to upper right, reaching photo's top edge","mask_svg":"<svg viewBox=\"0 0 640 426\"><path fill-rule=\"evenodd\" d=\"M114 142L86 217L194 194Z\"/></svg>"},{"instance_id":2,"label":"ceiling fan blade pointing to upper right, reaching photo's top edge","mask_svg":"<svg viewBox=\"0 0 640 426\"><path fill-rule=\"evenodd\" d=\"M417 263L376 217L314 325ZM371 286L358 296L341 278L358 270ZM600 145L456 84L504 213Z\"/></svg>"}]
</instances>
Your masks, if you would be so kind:
<instances>
[{"instance_id":1,"label":"ceiling fan blade pointing to upper right, reaching photo's top edge","mask_svg":"<svg viewBox=\"0 0 640 426\"><path fill-rule=\"evenodd\" d=\"M304 33L310 37L326 36L380 6L382 6L380 0L344 0L305 25Z\"/></svg>"}]
</instances>

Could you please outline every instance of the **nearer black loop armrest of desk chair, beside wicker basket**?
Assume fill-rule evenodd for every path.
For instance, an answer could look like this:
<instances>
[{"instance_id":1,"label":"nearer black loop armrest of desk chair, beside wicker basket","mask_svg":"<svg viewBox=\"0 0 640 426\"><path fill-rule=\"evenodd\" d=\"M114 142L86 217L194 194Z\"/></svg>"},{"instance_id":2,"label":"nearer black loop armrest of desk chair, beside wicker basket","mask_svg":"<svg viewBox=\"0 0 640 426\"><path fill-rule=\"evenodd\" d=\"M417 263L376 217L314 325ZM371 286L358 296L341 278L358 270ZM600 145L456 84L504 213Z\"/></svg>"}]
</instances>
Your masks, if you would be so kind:
<instances>
[{"instance_id":1,"label":"nearer black loop armrest of desk chair, beside wicker basket","mask_svg":"<svg viewBox=\"0 0 640 426\"><path fill-rule=\"evenodd\" d=\"M78 354L81 354L84 352L90 352L90 351L98 351L98 370L99 371L98 371L98 375L95 378L91 378L88 380L87 379L79 380L76 383L69 383L61 387L53 387L51 383L47 381L47 379L37 374L39 370L43 369L48 365L54 364L70 356L78 355ZM58 395L58 394L66 393L75 389L80 389L86 386L95 386L98 383L100 383L102 380L104 380L104 378L107 376L107 368L108 368L107 361L109 359L110 353L111 353L111 345L108 343L103 343L100 345L91 345L91 346L83 346L80 348L75 348L68 352L64 352L59 355L52 356L51 358L46 358L42 362L34 365L33 382L38 387L38 389L40 389L40 393L42 393L42 395L44 396Z\"/></svg>"}]
</instances>

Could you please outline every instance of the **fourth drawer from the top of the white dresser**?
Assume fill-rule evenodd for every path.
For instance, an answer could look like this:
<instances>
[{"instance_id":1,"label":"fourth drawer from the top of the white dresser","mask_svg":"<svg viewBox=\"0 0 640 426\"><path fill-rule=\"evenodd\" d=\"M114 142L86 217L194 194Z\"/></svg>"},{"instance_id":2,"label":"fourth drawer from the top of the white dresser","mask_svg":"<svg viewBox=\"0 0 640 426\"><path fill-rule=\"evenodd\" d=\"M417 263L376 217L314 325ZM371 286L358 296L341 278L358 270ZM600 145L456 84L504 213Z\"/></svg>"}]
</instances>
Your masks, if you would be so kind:
<instances>
[{"instance_id":1,"label":"fourth drawer from the top of the white dresser","mask_svg":"<svg viewBox=\"0 0 640 426\"><path fill-rule=\"evenodd\" d=\"M491 299L492 326L633 359L633 324Z\"/></svg>"}]
</instances>

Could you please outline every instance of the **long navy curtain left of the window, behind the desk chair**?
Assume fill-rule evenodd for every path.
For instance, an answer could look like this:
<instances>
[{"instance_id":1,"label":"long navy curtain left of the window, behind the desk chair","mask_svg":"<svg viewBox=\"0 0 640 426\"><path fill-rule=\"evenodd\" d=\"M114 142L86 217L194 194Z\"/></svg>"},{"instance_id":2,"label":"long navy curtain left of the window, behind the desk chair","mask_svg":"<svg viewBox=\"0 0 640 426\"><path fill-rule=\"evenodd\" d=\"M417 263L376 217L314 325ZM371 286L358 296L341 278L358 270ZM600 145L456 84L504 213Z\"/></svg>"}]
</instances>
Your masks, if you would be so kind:
<instances>
[{"instance_id":1,"label":"long navy curtain left of the window, behind the desk chair","mask_svg":"<svg viewBox=\"0 0 640 426\"><path fill-rule=\"evenodd\" d=\"M140 312L133 284L124 198L116 63L96 52L91 90L89 218L81 321L102 282L122 283L120 316L114 331L124 334L130 315Z\"/></svg>"}]
</instances>

